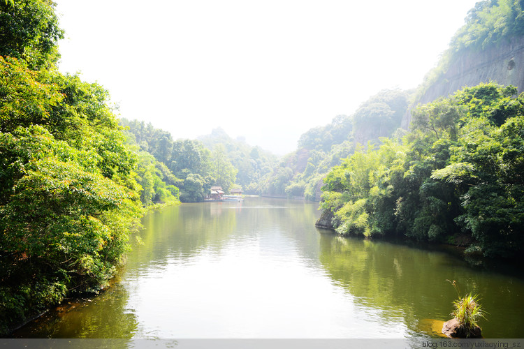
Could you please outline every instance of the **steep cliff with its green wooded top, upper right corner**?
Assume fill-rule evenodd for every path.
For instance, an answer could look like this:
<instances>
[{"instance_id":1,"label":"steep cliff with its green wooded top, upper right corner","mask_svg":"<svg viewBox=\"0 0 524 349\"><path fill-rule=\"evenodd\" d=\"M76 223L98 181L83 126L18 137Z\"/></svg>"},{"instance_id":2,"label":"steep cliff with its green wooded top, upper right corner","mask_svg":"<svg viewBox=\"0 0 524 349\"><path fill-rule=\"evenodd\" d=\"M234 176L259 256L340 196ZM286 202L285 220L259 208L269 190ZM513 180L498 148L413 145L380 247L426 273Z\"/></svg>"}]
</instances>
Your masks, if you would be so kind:
<instances>
[{"instance_id":1,"label":"steep cliff with its green wooded top, upper right corner","mask_svg":"<svg viewBox=\"0 0 524 349\"><path fill-rule=\"evenodd\" d=\"M513 0L477 2L437 66L425 76L413 107L481 82L511 84L524 91L523 6ZM405 114L404 128L411 117Z\"/></svg>"}]
</instances>

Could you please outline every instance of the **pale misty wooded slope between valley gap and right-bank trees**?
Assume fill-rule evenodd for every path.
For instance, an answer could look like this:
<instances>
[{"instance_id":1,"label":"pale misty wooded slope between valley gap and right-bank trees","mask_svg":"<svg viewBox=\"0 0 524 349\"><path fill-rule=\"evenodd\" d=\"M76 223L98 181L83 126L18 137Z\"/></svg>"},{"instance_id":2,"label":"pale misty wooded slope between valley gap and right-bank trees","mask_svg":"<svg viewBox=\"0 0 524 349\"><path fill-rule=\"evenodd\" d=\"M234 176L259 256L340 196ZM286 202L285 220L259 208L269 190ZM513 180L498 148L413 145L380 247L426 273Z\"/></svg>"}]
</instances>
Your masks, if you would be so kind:
<instances>
[{"instance_id":1,"label":"pale misty wooded slope between valley gap and right-bank trees","mask_svg":"<svg viewBox=\"0 0 524 349\"><path fill-rule=\"evenodd\" d=\"M339 115L326 126L300 136L298 149L287 154L270 177L265 195L320 200L322 179L359 147L379 144L400 128L409 105L409 93L383 90L351 116ZM402 131L398 131L402 133Z\"/></svg>"}]
</instances>

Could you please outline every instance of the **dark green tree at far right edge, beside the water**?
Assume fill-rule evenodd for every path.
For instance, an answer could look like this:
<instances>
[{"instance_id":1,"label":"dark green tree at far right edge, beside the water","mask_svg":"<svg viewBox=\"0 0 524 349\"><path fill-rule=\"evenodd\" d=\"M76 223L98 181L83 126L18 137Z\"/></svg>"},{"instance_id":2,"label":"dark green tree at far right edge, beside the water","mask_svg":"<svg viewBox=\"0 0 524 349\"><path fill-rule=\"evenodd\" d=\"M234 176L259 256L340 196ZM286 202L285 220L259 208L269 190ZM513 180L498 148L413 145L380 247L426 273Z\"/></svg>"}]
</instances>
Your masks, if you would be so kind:
<instances>
[{"instance_id":1,"label":"dark green tree at far right edge, beside the water","mask_svg":"<svg viewBox=\"0 0 524 349\"><path fill-rule=\"evenodd\" d=\"M523 114L500 128L479 119L463 128L452 163L432 174L462 188L465 211L456 220L485 255L513 256L524 248L523 136Z\"/></svg>"}]
</instances>

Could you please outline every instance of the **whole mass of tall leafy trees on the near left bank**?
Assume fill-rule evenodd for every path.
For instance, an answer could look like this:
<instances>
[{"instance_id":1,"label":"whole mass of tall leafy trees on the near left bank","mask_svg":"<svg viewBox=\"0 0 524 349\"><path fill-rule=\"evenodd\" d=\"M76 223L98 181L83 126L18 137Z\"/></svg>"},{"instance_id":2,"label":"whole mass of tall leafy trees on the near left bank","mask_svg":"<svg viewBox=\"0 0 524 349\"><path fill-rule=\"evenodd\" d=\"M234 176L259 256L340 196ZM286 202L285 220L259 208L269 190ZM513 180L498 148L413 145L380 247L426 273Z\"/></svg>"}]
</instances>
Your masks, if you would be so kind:
<instances>
[{"instance_id":1,"label":"whole mass of tall leafy trees on the near left bank","mask_svg":"<svg viewBox=\"0 0 524 349\"><path fill-rule=\"evenodd\" d=\"M122 262L142 208L138 157L107 91L56 70L62 31L52 2L0 3L0 29L4 333L71 292L101 288Z\"/></svg>"}]
</instances>

